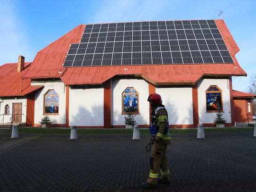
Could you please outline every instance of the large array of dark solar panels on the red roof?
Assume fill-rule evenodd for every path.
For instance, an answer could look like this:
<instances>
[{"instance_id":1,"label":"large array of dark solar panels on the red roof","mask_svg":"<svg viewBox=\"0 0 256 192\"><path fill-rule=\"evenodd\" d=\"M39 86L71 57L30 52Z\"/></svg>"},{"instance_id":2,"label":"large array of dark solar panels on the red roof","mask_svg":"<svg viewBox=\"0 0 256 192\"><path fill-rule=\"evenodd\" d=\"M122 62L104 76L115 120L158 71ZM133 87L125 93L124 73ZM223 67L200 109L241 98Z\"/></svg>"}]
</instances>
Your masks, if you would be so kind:
<instances>
[{"instance_id":1,"label":"large array of dark solar panels on the red roof","mask_svg":"<svg viewBox=\"0 0 256 192\"><path fill-rule=\"evenodd\" d=\"M86 25L64 67L233 63L214 20Z\"/></svg>"}]
</instances>

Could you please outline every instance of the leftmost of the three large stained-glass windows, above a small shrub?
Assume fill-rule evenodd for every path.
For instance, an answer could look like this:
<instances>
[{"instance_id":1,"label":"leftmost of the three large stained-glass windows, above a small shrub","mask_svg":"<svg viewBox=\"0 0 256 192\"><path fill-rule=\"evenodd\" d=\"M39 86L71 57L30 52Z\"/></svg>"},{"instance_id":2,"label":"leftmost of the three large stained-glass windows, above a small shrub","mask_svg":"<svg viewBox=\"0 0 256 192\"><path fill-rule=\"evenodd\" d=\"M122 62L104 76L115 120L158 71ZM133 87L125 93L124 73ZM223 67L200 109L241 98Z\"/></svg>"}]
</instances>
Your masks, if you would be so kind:
<instances>
[{"instance_id":1,"label":"leftmost of the three large stained-glass windows, above a small shrub","mask_svg":"<svg viewBox=\"0 0 256 192\"><path fill-rule=\"evenodd\" d=\"M55 115L59 113L59 95L54 90L45 94L44 115Z\"/></svg>"}]
</instances>

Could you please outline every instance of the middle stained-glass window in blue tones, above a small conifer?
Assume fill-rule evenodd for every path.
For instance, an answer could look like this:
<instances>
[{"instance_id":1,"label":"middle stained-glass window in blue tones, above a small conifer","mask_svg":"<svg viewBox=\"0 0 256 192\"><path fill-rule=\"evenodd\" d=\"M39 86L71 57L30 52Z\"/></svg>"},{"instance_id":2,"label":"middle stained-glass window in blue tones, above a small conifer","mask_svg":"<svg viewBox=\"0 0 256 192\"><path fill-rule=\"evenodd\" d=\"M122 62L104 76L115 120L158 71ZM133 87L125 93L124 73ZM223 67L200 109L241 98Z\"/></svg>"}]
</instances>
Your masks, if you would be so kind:
<instances>
[{"instance_id":1,"label":"middle stained-glass window in blue tones, above a small conifer","mask_svg":"<svg viewBox=\"0 0 256 192\"><path fill-rule=\"evenodd\" d=\"M122 114L131 112L133 114L139 113L138 92L133 87L127 87L122 93Z\"/></svg>"}]
</instances>

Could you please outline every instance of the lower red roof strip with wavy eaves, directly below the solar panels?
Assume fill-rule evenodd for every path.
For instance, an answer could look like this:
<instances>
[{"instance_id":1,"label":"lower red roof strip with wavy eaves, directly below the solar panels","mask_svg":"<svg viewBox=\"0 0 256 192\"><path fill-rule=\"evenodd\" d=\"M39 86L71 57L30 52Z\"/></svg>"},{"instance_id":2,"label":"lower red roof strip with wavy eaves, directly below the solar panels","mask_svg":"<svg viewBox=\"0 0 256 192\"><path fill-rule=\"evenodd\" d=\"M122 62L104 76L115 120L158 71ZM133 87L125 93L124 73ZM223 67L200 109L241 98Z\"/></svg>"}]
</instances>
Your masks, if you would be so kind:
<instances>
[{"instance_id":1,"label":"lower red roof strip with wavy eaves, directly below the solar panels","mask_svg":"<svg viewBox=\"0 0 256 192\"><path fill-rule=\"evenodd\" d=\"M136 75L153 84L179 84L196 83L203 75L241 74L246 73L232 64L69 67L61 80L66 85L101 84L115 75Z\"/></svg>"}]
</instances>

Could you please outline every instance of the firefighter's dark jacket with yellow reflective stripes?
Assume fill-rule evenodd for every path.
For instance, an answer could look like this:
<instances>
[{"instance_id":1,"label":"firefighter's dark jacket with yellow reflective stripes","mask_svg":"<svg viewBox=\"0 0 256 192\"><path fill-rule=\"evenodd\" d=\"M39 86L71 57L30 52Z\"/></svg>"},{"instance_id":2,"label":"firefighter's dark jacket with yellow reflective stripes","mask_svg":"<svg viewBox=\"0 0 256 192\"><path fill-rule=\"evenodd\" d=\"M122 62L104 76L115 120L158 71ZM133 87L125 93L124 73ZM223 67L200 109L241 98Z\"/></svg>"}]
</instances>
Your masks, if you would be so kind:
<instances>
[{"instance_id":1,"label":"firefighter's dark jacket with yellow reflective stripes","mask_svg":"<svg viewBox=\"0 0 256 192\"><path fill-rule=\"evenodd\" d=\"M155 109L153 113L155 113L155 111L157 111L157 113L155 114L155 117L151 117L152 124L155 124L158 129L158 132L155 135L155 141L170 145L171 136L169 134L168 114L164 107L160 108L161 109L158 111Z\"/></svg>"}]
</instances>

